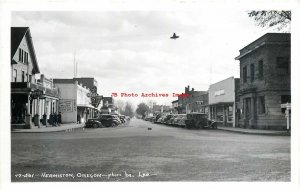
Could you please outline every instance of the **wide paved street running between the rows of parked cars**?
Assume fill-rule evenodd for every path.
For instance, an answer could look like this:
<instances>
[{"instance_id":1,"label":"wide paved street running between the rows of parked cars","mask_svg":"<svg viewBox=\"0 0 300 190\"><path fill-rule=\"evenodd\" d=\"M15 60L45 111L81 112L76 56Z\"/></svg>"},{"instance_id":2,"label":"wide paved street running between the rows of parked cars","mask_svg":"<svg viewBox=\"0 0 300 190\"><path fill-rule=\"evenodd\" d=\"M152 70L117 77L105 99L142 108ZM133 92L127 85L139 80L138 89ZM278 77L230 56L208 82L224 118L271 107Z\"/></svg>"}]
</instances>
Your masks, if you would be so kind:
<instances>
[{"instance_id":1,"label":"wide paved street running between the rows of parked cars","mask_svg":"<svg viewBox=\"0 0 300 190\"><path fill-rule=\"evenodd\" d=\"M290 181L291 175L289 136L132 119L116 128L11 138L12 181Z\"/></svg>"}]
</instances>

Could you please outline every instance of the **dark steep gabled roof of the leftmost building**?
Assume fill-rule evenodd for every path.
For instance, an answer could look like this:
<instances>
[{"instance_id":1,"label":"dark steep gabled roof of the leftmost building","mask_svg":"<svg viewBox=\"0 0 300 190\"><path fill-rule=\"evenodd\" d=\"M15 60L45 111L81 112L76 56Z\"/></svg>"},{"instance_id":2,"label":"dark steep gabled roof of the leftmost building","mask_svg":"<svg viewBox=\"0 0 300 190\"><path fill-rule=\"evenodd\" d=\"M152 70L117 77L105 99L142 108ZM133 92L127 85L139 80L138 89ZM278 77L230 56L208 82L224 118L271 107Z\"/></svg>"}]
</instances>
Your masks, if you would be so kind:
<instances>
[{"instance_id":1,"label":"dark steep gabled roof of the leftmost building","mask_svg":"<svg viewBox=\"0 0 300 190\"><path fill-rule=\"evenodd\" d=\"M11 59L15 55L16 51L18 50L18 47L20 46L22 39L25 36L27 39L27 42L28 42L28 48L31 51L30 55L32 58L32 64L34 66L33 72L40 73L40 69L38 67L29 27L11 27L10 33L11 33L11 42L10 42L11 43L11 52L10 52Z\"/></svg>"}]
</instances>

